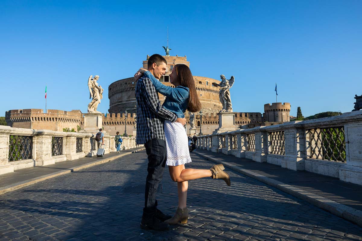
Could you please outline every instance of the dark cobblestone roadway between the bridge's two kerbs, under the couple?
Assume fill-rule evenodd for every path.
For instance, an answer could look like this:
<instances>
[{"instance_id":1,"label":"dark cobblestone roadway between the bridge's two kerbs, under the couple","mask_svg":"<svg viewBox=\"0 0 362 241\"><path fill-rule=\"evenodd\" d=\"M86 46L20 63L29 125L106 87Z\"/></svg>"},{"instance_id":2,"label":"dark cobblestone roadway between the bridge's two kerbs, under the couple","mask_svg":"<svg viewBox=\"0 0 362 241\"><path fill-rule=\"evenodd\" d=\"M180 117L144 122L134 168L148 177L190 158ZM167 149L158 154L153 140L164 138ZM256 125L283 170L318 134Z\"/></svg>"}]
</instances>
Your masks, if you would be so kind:
<instances>
[{"instance_id":1,"label":"dark cobblestone roadway between the bridge's two kerbs, under the couple","mask_svg":"<svg viewBox=\"0 0 362 241\"><path fill-rule=\"evenodd\" d=\"M191 158L187 167L213 165ZM231 187L211 178L189 181L187 225L142 230L144 193L137 185L144 185L146 167L142 151L1 195L0 241L362 240L361 227L230 169ZM162 184L159 209L172 214L177 189L167 168Z\"/></svg>"}]
</instances>

